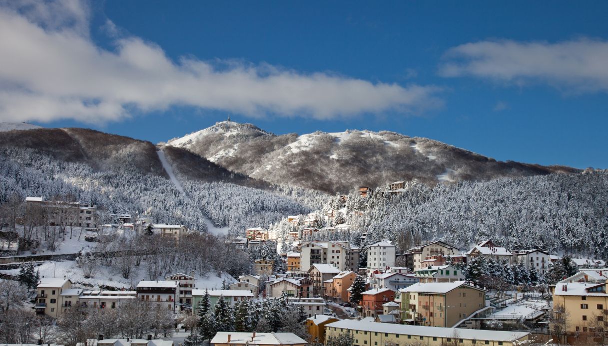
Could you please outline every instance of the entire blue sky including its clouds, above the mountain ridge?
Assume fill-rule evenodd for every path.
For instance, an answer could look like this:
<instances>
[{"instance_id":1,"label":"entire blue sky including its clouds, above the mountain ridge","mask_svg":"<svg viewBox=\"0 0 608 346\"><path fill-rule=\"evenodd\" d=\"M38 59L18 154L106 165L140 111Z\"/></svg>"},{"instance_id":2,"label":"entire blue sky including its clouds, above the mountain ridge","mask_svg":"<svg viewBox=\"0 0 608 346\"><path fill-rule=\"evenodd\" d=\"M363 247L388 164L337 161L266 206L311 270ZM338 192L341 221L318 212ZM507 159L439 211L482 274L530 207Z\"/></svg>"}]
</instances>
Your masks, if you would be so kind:
<instances>
[{"instance_id":1,"label":"entire blue sky including its clouds, above the mountain ridge","mask_svg":"<svg viewBox=\"0 0 608 346\"><path fill-rule=\"evenodd\" d=\"M61 3L13 6L5 15L107 54L78 55L75 61L91 63L57 63L38 74L31 66L14 72L20 65L0 71L1 88L30 89L23 104L0 110L0 120L156 143L230 114L276 134L389 130L497 160L608 168L605 1ZM23 36L13 46L43 35L25 36L28 24L12 27L19 25L13 36ZM61 52L85 50L78 47ZM71 66L78 76L61 72ZM140 73L147 69L159 73L148 81ZM192 76L198 80L190 84ZM133 82L130 89L115 92L126 84L120 78ZM249 87L230 84L241 80ZM164 90L158 95L156 84ZM27 104L41 110L30 114Z\"/></svg>"}]
</instances>

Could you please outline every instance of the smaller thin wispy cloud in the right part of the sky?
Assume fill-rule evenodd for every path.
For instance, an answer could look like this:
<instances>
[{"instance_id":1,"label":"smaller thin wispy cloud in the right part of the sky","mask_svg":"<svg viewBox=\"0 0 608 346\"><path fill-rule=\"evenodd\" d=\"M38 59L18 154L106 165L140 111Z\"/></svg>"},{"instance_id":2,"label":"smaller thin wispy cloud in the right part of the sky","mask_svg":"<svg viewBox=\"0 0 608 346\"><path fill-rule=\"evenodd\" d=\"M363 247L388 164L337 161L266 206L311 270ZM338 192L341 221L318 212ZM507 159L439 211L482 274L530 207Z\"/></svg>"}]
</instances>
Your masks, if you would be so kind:
<instances>
[{"instance_id":1,"label":"smaller thin wispy cloud in the right part of the sky","mask_svg":"<svg viewBox=\"0 0 608 346\"><path fill-rule=\"evenodd\" d=\"M441 76L469 75L516 84L547 83L576 92L608 92L608 41L481 41L454 47L444 59Z\"/></svg>"}]
</instances>

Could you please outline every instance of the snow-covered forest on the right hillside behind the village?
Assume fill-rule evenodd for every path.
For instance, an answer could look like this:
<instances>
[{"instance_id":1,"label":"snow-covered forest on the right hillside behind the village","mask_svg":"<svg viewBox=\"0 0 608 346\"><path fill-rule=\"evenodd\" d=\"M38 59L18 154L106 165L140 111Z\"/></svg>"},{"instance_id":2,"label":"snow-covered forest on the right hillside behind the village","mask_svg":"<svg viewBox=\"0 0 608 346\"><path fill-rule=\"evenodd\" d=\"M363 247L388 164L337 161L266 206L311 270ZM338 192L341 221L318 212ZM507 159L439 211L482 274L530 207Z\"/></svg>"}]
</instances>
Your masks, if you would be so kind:
<instances>
[{"instance_id":1,"label":"snow-covered forest on the right hillside behind the village","mask_svg":"<svg viewBox=\"0 0 608 346\"><path fill-rule=\"evenodd\" d=\"M510 249L540 248L553 253L608 257L608 172L551 174L502 178L491 181L460 181L434 188L412 181L404 192L376 189L371 197L351 192L345 203L334 196L316 211L322 227L350 225L349 232L334 232L334 240L362 245L381 239L394 240L402 250L443 239L468 250L491 239ZM344 210L344 209L343 209ZM362 214L362 215L360 215ZM282 220L274 225L282 234L305 228ZM313 238L325 237L323 229Z\"/></svg>"}]
</instances>

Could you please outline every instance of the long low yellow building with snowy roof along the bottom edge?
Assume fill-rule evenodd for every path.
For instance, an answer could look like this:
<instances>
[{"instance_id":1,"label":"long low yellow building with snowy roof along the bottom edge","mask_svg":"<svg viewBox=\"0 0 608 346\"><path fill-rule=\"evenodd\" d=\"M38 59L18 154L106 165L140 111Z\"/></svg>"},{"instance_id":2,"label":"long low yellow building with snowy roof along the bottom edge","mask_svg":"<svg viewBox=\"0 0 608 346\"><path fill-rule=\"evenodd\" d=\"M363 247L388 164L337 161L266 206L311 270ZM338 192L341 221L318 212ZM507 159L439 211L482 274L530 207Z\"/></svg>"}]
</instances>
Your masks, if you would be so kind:
<instances>
[{"instance_id":1,"label":"long low yellow building with snowy roof along the bottom edge","mask_svg":"<svg viewBox=\"0 0 608 346\"><path fill-rule=\"evenodd\" d=\"M523 345L530 333L520 331L477 330L465 328L423 327L356 320L342 320L325 325L325 341L343 333L353 335L353 345ZM453 343L453 344L452 344Z\"/></svg>"}]
</instances>

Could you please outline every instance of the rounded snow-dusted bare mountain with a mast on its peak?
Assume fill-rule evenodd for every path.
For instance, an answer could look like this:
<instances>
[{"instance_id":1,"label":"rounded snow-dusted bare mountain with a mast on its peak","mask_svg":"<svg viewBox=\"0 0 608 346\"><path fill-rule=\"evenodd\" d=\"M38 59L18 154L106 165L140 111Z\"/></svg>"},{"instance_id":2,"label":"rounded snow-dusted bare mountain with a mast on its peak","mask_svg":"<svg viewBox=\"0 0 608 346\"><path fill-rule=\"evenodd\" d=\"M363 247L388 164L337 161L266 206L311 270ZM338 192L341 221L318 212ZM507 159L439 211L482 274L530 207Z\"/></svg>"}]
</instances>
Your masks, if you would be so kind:
<instances>
[{"instance_id":1,"label":"rounded snow-dusted bare mountain with a mast on its peak","mask_svg":"<svg viewBox=\"0 0 608 346\"><path fill-rule=\"evenodd\" d=\"M168 146L185 148L230 171L280 185L345 193L416 179L459 180L579 172L565 166L496 161L440 141L390 131L275 135L253 124L221 121Z\"/></svg>"}]
</instances>

